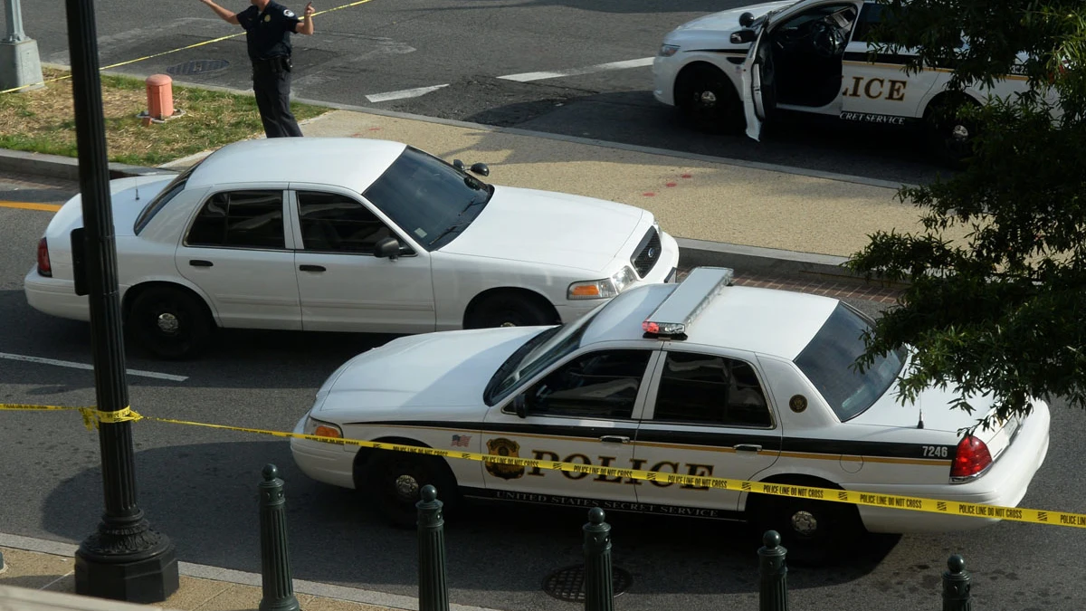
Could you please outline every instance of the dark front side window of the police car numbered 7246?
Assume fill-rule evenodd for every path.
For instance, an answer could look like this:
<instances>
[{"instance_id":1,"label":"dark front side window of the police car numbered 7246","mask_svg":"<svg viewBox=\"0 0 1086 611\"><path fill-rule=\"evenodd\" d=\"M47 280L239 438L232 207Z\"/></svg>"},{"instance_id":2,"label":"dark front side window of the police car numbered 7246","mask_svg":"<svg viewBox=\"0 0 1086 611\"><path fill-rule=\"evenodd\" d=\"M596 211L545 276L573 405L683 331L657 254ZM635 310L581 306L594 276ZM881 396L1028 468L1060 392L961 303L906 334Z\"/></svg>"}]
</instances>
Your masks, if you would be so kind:
<instances>
[{"instance_id":1,"label":"dark front side window of the police car numbered 7246","mask_svg":"<svg viewBox=\"0 0 1086 611\"><path fill-rule=\"evenodd\" d=\"M582 354L528 390L540 415L623 420L633 416L652 350L601 350Z\"/></svg>"}]
</instances>

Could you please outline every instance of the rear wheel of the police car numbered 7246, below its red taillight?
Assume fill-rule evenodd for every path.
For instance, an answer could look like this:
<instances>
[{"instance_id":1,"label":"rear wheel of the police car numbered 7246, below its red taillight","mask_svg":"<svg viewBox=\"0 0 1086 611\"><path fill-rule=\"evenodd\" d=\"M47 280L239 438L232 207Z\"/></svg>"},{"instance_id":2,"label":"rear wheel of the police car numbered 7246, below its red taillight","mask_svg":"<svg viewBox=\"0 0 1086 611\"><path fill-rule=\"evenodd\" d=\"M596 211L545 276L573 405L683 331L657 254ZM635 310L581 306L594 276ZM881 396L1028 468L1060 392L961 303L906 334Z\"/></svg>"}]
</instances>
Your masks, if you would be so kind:
<instances>
[{"instance_id":1,"label":"rear wheel of the police car numbered 7246, below its red taillight","mask_svg":"<svg viewBox=\"0 0 1086 611\"><path fill-rule=\"evenodd\" d=\"M776 531L788 562L797 565L837 560L866 533L848 503L755 495L747 506L748 523L759 540L766 531Z\"/></svg>"}]
</instances>

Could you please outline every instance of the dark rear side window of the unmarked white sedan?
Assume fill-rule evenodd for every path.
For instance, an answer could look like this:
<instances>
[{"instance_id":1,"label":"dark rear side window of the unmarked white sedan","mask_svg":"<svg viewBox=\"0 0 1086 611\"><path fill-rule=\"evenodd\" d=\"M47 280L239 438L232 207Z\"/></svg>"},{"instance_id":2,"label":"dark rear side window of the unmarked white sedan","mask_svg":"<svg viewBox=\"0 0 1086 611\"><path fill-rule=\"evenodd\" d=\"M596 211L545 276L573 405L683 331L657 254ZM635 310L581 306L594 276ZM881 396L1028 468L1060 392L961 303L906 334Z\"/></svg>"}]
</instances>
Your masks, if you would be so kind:
<instances>
[{"instance_id":1,"label":"dark rear side window of the unmarked white sedan","mask_svg":"<svg viewBox=\"0 0 1086 611\"><path fill-rule=\"evenodd\" d=\"M282 191L215 194L192 222L186 244L225 248L285 248Z\"/></svg>"}]
</instances>

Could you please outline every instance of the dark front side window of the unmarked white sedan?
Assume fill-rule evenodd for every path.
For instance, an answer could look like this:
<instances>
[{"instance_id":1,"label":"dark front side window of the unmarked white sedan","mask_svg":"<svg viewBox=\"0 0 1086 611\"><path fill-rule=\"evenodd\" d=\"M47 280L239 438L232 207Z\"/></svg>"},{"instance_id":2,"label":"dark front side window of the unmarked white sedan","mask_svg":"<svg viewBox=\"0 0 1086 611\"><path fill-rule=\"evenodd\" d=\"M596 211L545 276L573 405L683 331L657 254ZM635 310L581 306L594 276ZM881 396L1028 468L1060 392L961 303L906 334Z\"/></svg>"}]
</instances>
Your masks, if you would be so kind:
<instances>
[{"instance_id":1,"label":"dark front side window of the unmarked white sedan","mask_svg":"<svg viewBox=\"0 0 1086 611\"><path fill-rule=\"evenodd\" d=\"M299 191L298 214L305 250L372 254L392 235L361 202L337 194Z\"/></svg>"}]
</instances>

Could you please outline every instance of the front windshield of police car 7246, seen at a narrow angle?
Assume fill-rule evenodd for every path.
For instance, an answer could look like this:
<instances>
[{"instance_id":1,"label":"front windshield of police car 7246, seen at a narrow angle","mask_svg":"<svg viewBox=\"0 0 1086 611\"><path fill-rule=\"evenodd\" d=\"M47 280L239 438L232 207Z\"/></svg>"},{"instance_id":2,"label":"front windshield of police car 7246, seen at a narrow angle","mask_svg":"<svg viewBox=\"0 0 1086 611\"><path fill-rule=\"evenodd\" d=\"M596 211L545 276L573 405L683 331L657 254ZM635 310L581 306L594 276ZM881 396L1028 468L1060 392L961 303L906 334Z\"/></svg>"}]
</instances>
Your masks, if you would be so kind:
<instances>
[{"instance_id":1,"label":"front windshield of police car 7246, seen at a narrow angle","mask_svg":"<svg viewBox=\"0 0 1086 611\"><path fill-rule=\"evenodd\" d=\"M581 347L581 338L589 323L596 317L606 303L581 316L568 325L551 327L528 341L502 364L488 385L483 399L488 406L501 401L521 381L530 379L567 354Z\"/></svg>"}]
</instances>

